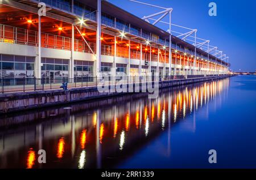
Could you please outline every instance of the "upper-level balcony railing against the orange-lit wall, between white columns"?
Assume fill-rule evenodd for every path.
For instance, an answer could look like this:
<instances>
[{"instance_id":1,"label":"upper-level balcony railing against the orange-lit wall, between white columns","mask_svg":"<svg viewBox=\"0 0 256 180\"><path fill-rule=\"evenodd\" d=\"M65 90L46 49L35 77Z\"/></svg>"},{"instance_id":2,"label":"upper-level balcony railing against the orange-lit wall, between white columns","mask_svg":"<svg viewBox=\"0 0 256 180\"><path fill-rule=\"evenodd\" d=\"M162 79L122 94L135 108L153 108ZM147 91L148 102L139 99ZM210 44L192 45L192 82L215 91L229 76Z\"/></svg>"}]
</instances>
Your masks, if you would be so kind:
<instances>
[{"instance_id":1,"label":"upper-level balcony railing against the orange-lit wall, between white columns","mask_svg":"<svg viewBox=\"0 0 256 180\"><path fill-rule=\"evenodd\" d=\"M29 29L0 24L0 42L1 41L11 43L11 44L38 46L38 32L29 30ZM52 35L49 33L42 33L41 41L42 41L42 47L44 48L71 50L71 46L72 46L71 45L72 39L70 37ZM88 44L90 48L93 50L93 52L96 53L96 43L88 42ZM193 52L189 50L181 49L179 46L176 46L174 44L172 44L172 48L183 51L184 53L186 52L192 55L194 54ZM102 44L101 49L102 49L101 51L102 55L114 54L114 49L112 48L112 46ZM74 40L74 50L76 52L92 53L90 52L88 45L86 45L86 43L83 40L77 40L77 39ZM141 55L140 52L131 51L131 58L133 59L140 59L140 55ZM128 58L129 57L128 50L117 48L117 56ZM206 57L203 57L199 54L197 54L197 57L206 59ZM149 54L143 53L142 59L149 61ZM166 59L168 59L168 57L166 57ZM158 55L152 54L152 61L157 62ZM179 61L179 59L177 59L177 61ZM160 62L164 62L162 56L160 56ZM172 58L172 62L174 63L174 58ZM196 65L196 67L199 67L199 66Z\"/></svg>"}]
</instances>

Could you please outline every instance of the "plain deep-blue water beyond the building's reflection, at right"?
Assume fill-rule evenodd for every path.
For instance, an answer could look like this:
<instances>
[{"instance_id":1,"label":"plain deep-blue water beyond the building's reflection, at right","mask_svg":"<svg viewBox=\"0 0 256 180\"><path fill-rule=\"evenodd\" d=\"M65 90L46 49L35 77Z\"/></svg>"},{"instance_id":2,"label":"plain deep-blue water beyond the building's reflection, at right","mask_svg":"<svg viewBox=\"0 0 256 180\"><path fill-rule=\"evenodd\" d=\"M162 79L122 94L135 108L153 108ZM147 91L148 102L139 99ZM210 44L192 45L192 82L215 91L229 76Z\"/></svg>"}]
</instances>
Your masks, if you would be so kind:
<instances>
[{"instance_id":1,"label":"plain deep-blue water beyond the building's reflection, at right","mask_svg":"<svg viewBox=\"0 0 256 180\"><path fill-rule=\"evenodd\" d=\"M231 78L226 93L152 140L119 168L256 168L255 111L256 76ZM195 128L187 128L193 121ZM217 164L208 161L210 149L217 151Z\"/></svg>"}]
</instances>

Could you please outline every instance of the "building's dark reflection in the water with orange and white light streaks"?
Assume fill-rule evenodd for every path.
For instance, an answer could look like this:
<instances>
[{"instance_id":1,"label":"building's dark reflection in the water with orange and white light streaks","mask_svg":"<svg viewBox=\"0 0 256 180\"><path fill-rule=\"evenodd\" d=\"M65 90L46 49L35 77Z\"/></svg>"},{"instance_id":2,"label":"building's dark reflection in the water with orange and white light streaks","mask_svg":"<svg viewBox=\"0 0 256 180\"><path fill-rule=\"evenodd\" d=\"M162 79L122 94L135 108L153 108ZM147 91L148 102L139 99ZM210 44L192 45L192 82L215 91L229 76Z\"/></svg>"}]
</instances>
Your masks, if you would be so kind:
<instances>
[{"instance_id":1,"label":"building's dark reflection in the water with orange and white light streaks","mask_svg":"<svg viewBox=\"0 0 256 180\"><path fill-rule=\"evenodd\" d=\"M159 135L163 130L170 133L171 126L186 119L188 115L200 110L199 108L204 108L209 101L223 93L228 85L229 79L224 79L188 85L185 88L163 89L157 99L149 100L147 95L141 94L127 95L75 104L71 106L72 109L57 108L31 112L28 113L29 117L27 114L7 117L3 122L10 124L16 123L16 119L29 119L35 124L22 125L18 130L12 130L10 127L9 132L16 132L15 134L1 132L0 143L3 145L0 146L0 160L5 163L2 163L0 168L38 167L35 166L38 163L35 161L35 151L38 149L31 149L25 155L21 154L26 151L27 145L40 145L46 150L47 164L43 164L42 168L85 168L85 164L86 168L117 166L115 157L129 157L139 147L143 147L146 140ZM56 116L51 117L52 113ZM42 128L34 128L38 127L34 120L41 117ZM3 125L0 122L1 126ZM196 123L189 122L186 126L195 131ZM33 135L34 138L31 138ZM168 140L170 141L170 135ZM56 148L56 143L57 149L52 149ZM169 142L168 155L171 154L170 151ZM17 152L21 155L13 156ZM27 165L23 167L22 163L11 164L10 158L15 158L18 162L26 161Z\"/></svg>"}]
</instances>

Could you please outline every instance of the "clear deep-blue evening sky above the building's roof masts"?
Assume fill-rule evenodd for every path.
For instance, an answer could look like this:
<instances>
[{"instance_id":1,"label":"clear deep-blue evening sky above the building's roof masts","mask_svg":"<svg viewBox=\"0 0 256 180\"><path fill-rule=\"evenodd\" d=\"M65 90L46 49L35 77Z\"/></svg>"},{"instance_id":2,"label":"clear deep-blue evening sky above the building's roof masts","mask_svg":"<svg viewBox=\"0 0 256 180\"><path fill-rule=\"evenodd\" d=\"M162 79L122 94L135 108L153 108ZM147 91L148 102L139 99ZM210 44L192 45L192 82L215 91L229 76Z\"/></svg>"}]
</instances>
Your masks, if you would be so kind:
<instances>
[{"instance_id":1,"label":"clear deep-blue evening sky above the building's roof masts","mask_svg":"<svg viewBox=\"0 0 256 180\"><path fill-rule=\"evenodd\" d=\"M139 0L162 7L172 7L172 23L198 29L197 37L210 40L229 56L234 71L255 71L256 1L231 0ZM159 11L127 0L109 0L116 6L142 18ZM209 16L209 3L217 4L217 16ZM167 29L164 24L160 28Z\"/></svg>"}]
</instances>

